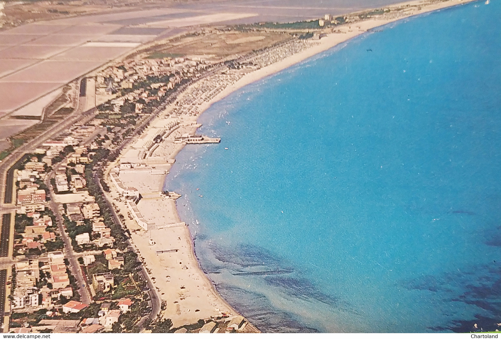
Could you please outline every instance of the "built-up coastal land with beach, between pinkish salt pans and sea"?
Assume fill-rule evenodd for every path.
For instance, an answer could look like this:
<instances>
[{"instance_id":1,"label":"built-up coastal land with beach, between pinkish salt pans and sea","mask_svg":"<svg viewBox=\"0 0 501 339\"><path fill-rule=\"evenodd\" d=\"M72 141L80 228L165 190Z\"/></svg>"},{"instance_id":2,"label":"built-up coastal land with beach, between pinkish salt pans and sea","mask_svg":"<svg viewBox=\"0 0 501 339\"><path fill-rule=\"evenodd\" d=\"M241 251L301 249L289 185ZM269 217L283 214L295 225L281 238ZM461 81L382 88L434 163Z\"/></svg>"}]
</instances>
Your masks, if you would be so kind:
<instances>
[{"instance_id":1,"label":"built-up coastal land with beach, between pinkish salt pans and sea","mask_svg":"<svg viewBox=\"0 0 501 339\"><path fill-rule=\"evenodd\" d=\"M258 332L200 268L176 209L180 194L163 187L185 145L220 141L196 134L198 117L234 90L358 34L464 2L197 26L70 83L49 120L18 133L25 143L1 155L3 331L57 332L62 320L72 332ZM203 198L194 189L187 198Z\"/></svg>"}]
</instances>

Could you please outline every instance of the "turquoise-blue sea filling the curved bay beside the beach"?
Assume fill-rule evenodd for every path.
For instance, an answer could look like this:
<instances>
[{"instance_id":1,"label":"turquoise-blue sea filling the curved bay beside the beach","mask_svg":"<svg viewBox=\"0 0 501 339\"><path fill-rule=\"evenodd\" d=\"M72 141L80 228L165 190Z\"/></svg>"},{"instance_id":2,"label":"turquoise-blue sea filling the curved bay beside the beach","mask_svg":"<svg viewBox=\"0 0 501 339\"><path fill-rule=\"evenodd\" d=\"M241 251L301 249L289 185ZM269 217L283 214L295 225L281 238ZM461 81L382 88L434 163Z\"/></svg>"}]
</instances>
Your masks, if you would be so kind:
<instances>
[{"instance_id":1,"label":"turquoise-blue sea filling the curved bay beside the beach","mask_svg":"<svg viewBox=\"0 0 501 339\"><path fill-rule=\"evenodd\" d=\"M201 115L221 143L165 187L235 309L265 332L497 328L500 12L378 27Z\"/></svg>"}]
</instances>

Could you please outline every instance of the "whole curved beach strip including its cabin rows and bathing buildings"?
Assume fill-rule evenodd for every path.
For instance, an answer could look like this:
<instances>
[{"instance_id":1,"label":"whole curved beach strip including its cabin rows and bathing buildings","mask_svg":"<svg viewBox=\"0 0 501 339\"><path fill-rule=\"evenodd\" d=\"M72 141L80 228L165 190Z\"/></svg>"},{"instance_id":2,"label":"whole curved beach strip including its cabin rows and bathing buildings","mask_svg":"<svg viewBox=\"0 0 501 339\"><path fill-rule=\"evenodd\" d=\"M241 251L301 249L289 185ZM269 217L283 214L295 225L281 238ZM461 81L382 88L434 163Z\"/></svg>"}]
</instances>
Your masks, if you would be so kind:
<instances>
[{"instance_id":1,"label":"whole curved beach strip including its cabin rows and bathing buildings","mask_svg":"<svg viewBox=\"0 0 501 339\"><path fill-rule=\"evenodd\" d=\"M399 3L389 6L387 14L337 26L315 40L296 39L264 48L257 54L238 56L236 67L232 63L233 67L220 69L190 84L138 138L133 139L106 170L111 187L109 197L119 211L128 213L125 224L165 301L162 317L180 326L199 318L238 315L214 290L193 255L193 241L175 206L179 195L163 191L164 175L174 163L176 154L187 143L193 143L190 140L203 138L195 134L200 126L196 121L198 116L238 88L375 27L466 2L470 1ZM127 187L137 189L142 196L133 206L124 198Z\"/></svg>"}]
</instances>

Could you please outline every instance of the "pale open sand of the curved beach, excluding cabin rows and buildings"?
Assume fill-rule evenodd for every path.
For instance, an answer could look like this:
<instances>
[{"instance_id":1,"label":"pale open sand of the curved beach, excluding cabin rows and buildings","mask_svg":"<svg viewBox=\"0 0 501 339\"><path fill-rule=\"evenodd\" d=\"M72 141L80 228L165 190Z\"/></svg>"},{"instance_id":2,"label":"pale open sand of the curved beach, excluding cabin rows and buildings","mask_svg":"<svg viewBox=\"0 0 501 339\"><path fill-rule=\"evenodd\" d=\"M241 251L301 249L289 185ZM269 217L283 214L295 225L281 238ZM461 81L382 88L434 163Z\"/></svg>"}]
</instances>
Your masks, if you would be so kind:
<instances>
[{"instance_id":1,"label":"pale open sand of the curved beach, excluding cabin rows and buildings","mask_svg":"<svg viewBox=\"0 0 501 339\"><path fill-rule=\"evenodd\" d=\"M276 73L372 28L409 16L470 1L448 0L436 3L410 1L399 3L388 6L389 8L408 8L402 9L399 15L388 18L370 18L336 27L339 32L331 32L320 40L312 40L309 42L310 46L308 48L296 54L258 70L242 73L241 77L233 83L221 87L216 95L204 100L196 107L186 105L186 109L180 111L179 105L175 103L169 105L150 123L140 137L132 140L128 148L122 151L121 157L108 166L106 173L117 170L123 186L131 186L139 190L143 198L138 202L137 208L148 222L148 229L145 230L141 227L134 220L134 217L130 215L125 199L120 196L118 189L107 176L111 188L109 197L116 205L119 213L125 216L125 224L131 231L133 244L140 253L140 257L155 283L159 297L165 301L165 309L161 312L162 317L171 318L174 326L181 326L194 323L200 318L206 319L223 314L237 315L237 312L219 296L207 276L200 269L194 255L193 242L188 227L180 220L177 213L175 197L160 193L165 179L164 173L170 169L176 154L184 146L184 143L174 143L174 139L186 133L195 133L199 126L196 124L196 120L205 109L246 84ZM203 81L203 79L200 81ZM182 102L183 97L198 87L198 83L191 85L179 95L177 101ZM134 168L126 168L120 165L129 161L126 159L132 158L130 154L134 154L138 145L144 142L142 138L145 138L148 134L155 135L155 130L162 130L171 122L176 122L179 125L151 153L149 163L141 163L133 166Z\"/></svg>"}]
</instances>

